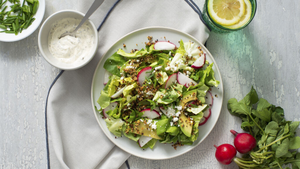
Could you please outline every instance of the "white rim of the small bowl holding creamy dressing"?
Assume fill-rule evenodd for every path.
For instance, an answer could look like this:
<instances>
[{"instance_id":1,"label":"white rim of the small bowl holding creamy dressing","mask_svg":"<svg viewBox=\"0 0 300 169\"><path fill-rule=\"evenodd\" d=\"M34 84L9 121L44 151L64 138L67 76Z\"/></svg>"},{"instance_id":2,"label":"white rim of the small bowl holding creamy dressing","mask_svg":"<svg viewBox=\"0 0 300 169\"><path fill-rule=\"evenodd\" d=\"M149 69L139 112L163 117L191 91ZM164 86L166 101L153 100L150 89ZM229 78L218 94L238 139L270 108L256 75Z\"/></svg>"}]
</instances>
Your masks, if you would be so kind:
<instances>
[{"instance_id":1,"label":"white rim of the small bowl holding creamy dressing","mask_svg":"<svg viewBox=\"0 0 300 169\"><path fill-rule=\"evenodd\" d=\"M79 14L79 15L82 15L82 17L84 17L85 14L83 14L82 12L79 12L79 11L75 11L75 10L62 10L62 11L57 11L55 12L54 14L50 15L45 21L44 23L42 24L41 28L40 28L40 32L38 34L38 46L39 46L39 49L40 49L40 52L42 54L42 56L44 57L44 59L52 66L58 68L58 69L62 69L62 70L75 70L75 69L79 69L81 68L82 66L85 66L88 62L90 62L93 57L95 56L97 50L98 50L98 45L99 45L99 37L98 37L98 30L95 26L95 24L90 20L88 19L88 22L91 24L93 30L94 30L94 33L95 33L95 38L96 38L96 43L97 45L95 45L91 50L95 50L93 56L89 59L89 60L86 60L86 62L82 63L81 65L78 65L78 66L73 66L73 67L70 67L70 68L65 68L63 66L59 66L59 65L56 65L55 63L53 63L45 54L43 48L42 48L42 45L41 45L41 30L43 30L46 22L51 19L53 16L57 15L57 14L60 14L60 13L65 13L65 12L73 12L73 13L76 13L76 14Z\"/></svg>"}]
</instances>

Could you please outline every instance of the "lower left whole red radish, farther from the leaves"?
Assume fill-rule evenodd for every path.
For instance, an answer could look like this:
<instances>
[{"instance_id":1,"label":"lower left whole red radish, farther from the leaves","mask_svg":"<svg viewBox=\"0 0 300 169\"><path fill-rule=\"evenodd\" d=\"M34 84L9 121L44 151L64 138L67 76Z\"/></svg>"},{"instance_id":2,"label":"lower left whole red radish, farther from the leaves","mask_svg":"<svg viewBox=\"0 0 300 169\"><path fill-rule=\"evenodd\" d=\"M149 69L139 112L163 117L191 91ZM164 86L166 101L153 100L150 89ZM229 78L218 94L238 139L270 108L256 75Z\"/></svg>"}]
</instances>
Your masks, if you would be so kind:
<instances>
[{"instance_id":1,"label":"lower left whole red radish, farther from the leaves","mask_svg":"<svg viewBox=\"0 0 300 169\"><path fill-rule=\"evenodd\" d=\"M214 145L214 147L217 149L215 156L221 164L230 164L236 155L236 150L231 144Z\"/></svg>"}]
</instances>

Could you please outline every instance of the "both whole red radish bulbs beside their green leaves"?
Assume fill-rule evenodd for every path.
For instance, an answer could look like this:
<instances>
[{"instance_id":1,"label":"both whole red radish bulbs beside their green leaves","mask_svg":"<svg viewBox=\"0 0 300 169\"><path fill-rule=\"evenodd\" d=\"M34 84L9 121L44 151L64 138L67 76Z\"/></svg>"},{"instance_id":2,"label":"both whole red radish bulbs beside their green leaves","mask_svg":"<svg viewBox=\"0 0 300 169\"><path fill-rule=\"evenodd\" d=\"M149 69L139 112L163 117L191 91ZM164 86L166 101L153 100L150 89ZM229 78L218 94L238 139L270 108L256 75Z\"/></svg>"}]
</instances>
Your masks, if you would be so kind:
<instances>
[{"instance_id":1,"label":"both whole red radish bulbs beside their green leaves","mask_svg":"<svg viewBox=\"0 0 300 169\"><path fill-rule=\"evenodd\" d=\"M255 138L248 133L238 133L234 130L230 130L230 132L235 136L232 146L231 144L222 144L220 146L214 145L216 147L215 157L217 161L221 164L230 164L235 160L236 151L241 154L246 154L250 152L256 146Z\"/></svg>"}]
</instances>

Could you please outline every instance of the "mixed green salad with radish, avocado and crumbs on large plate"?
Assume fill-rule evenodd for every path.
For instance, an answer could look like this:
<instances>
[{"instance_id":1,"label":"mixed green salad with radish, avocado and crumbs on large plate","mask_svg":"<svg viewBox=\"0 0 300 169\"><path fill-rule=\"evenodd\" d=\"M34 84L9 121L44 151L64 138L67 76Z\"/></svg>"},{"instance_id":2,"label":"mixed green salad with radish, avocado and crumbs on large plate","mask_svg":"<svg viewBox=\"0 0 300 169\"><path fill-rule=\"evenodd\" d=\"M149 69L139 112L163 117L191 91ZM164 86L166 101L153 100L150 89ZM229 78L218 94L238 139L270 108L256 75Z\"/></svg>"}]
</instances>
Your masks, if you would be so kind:
<instances>
[{"instance_id":1,"label":"mixed green salad with radish, avocado and crumbs on large plate","mask_svg":"<svg viewBox=\"0 0 300 169\"><path fill-rule=\"evenodd\" d=\"M143 149L152 149L157 140L174 143L175 149L191 145L199 124L211 114L209 89L220 83L214 78L213 63L193 42L181 40L176 47L148 39L146 48L131 53L119 49L105 61L106 85L97 101L101 108L95 109L110 132Z\"/></svg>"}]
</instances>

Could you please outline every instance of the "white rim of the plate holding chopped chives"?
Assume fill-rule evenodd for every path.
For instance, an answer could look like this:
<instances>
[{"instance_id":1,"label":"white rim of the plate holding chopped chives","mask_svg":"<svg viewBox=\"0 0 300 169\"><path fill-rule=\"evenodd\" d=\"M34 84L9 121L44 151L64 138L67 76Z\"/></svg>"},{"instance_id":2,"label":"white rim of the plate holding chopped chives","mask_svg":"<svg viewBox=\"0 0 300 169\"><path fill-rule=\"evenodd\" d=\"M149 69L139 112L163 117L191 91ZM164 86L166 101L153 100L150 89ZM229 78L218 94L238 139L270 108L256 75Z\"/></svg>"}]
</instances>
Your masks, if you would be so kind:
<instances>
[{"instance_id":1,"label":"white rim of the plate holding chopped chives","mask_svg":"<svg viewBox=\"0 0 300 169\"><path fill-rule=\"evenodd\" d=\"M43 2L43 3L41 3L41 2ZM14 42L14 41L19 41L21 39L27 38L29 35L31 35L33 32L35 32L35 30L41 25L41 22L44 18L44 14L45 14L45 8L46 8L46 0L39 0L38 11L34 15L34 17L36 18L35 21L33 21L32 25L29 26L27 29L24 29L24 30L30 30L30 31L24 32L24 30L23 30L22 33L19 32L18 35L11 34L14 36L9 36L9 38L6 38L6 39L1 38L1 34L0 34L0 41ZM40 11L41 11L41 13L40 13ZM39 15L37 16L37 14L39 14ZM34 27L34 25L35 25L35 27ZM1 33L4 33L4 32L1 32Z\"/></svg>"}]
</instances>

